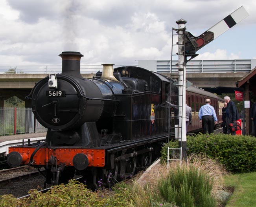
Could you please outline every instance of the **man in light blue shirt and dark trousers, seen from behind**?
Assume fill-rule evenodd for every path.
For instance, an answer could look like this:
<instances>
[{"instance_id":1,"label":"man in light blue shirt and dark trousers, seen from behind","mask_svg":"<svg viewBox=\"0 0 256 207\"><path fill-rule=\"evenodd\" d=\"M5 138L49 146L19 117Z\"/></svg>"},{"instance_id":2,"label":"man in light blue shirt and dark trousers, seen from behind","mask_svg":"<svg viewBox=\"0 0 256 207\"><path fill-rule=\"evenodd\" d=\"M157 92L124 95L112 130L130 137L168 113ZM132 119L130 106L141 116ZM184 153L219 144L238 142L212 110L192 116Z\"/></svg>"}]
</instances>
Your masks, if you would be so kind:
<instances>
[{"instance_id":1,"label":"man in light blue shirt and dark trousers, seen from behind","mask_svg":"<svg viewBox=\"0 0 256 207\"><path fill-rule=\"evenodd\" d=\"M214 107L210 103L210 99L205 99L205 105L201 106L198 113L199 120L202 123L203 134L214 133L214 124L217 124L217 116Z\"/></svg>"}]
</instances>

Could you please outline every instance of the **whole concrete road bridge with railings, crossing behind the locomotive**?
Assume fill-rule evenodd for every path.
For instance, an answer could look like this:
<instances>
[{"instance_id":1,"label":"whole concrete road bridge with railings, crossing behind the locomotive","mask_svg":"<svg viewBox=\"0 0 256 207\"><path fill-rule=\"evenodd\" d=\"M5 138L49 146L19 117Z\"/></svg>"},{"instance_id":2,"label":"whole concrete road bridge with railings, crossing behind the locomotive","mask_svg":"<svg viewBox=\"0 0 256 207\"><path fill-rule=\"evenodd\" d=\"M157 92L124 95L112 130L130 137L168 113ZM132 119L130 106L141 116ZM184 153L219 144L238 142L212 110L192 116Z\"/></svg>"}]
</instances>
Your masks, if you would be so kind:
<instances>
[{"instance_id":1,"label":"whole concrete road bridge with railings, crossing behind the locomotive","mask_svg":"<svg viewBox=\"0 0 256 207\"><path fill-rule=\"evenodd\" d=\"M178 79L177 61L173 61L172 77ZM170 76L170 60L139 60L136 66ZM115 65L115 67L119 67ZM186 79L206 91L233 93L236 82L256 67L256 59L246 60L191 60L186 66ZM101 65L81 65L83 77L93 77L102 71ZM61 66L0 66L0 107L12 96L25 97L40 79L50 73L61 73Z\"/></svg>"}]
</instances>

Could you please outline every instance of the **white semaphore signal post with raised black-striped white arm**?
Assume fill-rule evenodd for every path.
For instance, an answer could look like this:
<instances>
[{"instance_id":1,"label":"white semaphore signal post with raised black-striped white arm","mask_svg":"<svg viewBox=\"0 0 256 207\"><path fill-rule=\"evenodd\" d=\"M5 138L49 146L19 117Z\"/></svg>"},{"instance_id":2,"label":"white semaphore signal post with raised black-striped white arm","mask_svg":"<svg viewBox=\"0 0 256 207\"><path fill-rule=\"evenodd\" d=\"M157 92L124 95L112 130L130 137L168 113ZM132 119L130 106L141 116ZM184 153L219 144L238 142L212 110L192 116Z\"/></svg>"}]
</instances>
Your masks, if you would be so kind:
<instances>
[{"instance_id":1,"label":"white semaphore signal post with raised black-striped white arm","mask_svg":"<svg viewBox=\"0 0 256 207\"><path fill-rule=\"evenodd\" d=\"M177 20L178 29L173 29L178 33L178 68L179 68L179 139L180 147L180 161L186 158L186 63L196 57L196 52L212 42L215 38L219 37L225 31L235 26L238 22L249 16L243 6L236 9L230 15L219 21L217 24L206 30L198 37L193 36L190 32L186 31L186 20ZM173 51L172 44L172 51ZM173 56L173 54L172 54ZM172 58L171 58L172 60ZM171 64L172 65L172 64ZM168 161L169 161L169 147L168 147Z\"/></svg>"}]
</instances>

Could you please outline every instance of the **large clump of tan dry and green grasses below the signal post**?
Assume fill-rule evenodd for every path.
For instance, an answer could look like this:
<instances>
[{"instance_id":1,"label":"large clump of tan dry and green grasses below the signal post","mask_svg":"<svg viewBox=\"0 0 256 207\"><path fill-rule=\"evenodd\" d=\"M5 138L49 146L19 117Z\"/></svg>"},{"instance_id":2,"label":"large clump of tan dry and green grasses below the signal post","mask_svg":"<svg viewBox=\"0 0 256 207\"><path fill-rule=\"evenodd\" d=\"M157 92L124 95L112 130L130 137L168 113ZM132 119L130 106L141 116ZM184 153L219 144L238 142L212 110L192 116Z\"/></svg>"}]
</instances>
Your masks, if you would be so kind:
<instances>
[{"instance_id":1,"label":"large clump of tan dry and green grasses below the signal post","mask_svg":"<svg viewBox=\"0 0 256 207\"><path fill-rule=\"evenodd\" d=\"M134 181L130 206L215 207L223 190L225 169L208 158L191 155L180 165L158 164L143 183ZM175 186L175 187L173 187Z\"/></svg>"}]
</instances>

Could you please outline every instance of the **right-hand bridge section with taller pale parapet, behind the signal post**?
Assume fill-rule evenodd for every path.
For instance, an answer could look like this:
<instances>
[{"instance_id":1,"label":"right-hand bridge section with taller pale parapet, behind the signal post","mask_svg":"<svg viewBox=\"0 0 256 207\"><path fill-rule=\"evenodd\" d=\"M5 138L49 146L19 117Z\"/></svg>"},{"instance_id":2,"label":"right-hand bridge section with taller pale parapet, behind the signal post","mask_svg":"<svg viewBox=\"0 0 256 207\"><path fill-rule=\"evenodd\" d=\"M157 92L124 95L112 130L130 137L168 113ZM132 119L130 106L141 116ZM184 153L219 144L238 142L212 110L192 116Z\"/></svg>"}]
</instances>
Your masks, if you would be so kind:
<instances>
[{"instance_id":1,"label":"right-hand bridge section with taller pale parapet, behind the signal post","mask_svg":"<svg viewBox=\"0 0 256 207\"><path fill-rule=\"evenodd\" d=\"M172 78L178 79L178 61L173 61ZM169 76L170 60L139 60L139 67ZM190 60L186 79L212 93L234 93L236 82L256 67L256 59Z\"/></svg>"}]
</instances>

